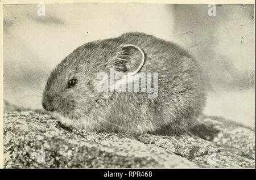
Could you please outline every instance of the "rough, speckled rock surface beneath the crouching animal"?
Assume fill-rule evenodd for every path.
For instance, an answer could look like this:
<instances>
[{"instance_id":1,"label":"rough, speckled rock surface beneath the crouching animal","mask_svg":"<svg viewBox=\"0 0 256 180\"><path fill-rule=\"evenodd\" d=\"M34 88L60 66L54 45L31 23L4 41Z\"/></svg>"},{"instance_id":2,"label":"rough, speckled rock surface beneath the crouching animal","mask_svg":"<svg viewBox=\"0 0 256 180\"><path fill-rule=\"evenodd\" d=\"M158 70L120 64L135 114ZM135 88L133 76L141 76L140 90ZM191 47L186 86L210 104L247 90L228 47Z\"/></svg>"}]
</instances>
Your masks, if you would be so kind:
<instances>
[{"instance_id":1,"label":"rough, speckled rock surface beneath the crouching animal","mask_svg":"<svg viewBox=\"0 0 256 180\"><path fill-rule=\"evenodd\" d=\"M135 137L72 130L47 114L4 113L4 167L255 168L255 130L217 117L200 121L214 133Z\"/></svg>"}]
</instances>

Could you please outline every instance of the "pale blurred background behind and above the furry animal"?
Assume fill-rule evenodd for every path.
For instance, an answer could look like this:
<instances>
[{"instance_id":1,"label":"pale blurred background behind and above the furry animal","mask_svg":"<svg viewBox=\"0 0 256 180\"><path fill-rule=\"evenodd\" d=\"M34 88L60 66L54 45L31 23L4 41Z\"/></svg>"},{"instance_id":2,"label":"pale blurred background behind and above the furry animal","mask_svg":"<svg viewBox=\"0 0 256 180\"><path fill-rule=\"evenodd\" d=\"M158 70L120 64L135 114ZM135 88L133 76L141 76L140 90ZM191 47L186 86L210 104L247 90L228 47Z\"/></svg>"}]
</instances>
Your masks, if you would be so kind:
<instances>
[{"instance_id":1,"label":"pale blurred background behind and above the furry animal","mask_svg":"<svg viewBox=\"0 0 256 180\"><path fill-rule=\"evenodd\" d=\"M47 76L89 41L144 32L173 41L199 61L207 82L206 115L255 126L254 5L88 4L3 6L3 98L42 109Z\"/></svg>"}]
</instances>

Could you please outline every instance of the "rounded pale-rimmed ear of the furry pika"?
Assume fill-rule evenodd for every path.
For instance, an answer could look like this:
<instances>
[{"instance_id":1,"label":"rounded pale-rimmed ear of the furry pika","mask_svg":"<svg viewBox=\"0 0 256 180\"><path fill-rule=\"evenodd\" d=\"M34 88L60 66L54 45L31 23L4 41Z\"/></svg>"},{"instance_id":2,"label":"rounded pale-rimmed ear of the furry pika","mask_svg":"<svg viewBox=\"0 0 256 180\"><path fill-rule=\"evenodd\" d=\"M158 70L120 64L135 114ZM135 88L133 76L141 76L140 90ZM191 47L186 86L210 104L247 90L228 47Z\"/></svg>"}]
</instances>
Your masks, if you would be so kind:
<instances>
[{"instance_id":1,"label":"rounded pale-rimmed ear of the furry pika","mask_svg":"<svg viewBox=\"0 0 256 180\"><path fill-rule=\"evenodd\" d=\"M127 44L118 48L116 56L110 61L110 66L121 72L136 74L144 65L145 55L138 46Z\"/></svg>"}]
</instances>

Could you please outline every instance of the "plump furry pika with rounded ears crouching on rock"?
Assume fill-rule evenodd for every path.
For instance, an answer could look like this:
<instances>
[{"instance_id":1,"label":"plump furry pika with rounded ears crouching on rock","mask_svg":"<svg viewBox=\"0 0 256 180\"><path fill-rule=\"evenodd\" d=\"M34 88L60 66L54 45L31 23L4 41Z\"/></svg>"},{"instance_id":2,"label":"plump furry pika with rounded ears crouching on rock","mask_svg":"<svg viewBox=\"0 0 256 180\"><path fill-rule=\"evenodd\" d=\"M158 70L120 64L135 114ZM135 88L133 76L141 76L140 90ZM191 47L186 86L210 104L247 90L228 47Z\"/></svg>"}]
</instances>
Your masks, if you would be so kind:
<instances>
[{"instance_id":1,"label":"plump furry pika with rounded ears crouching on rock","mask_svg":"<svg viewBox=\"0 0 256 180\"><path fill-rule=\"evenodd\" d=\"M148 98L147 92L97 91L98 72L110 68L131 72L142 56L139 72L158 72L158 97ZM75 49L51 72L42 105L68 126L88 131L138 135L167 128L171 134L180 134L195 125L205 106L205 93L200 67L185 50L131 32Z\"/></svg>"}]
</instances>

